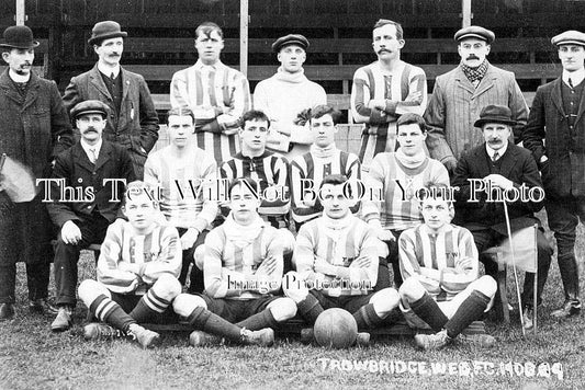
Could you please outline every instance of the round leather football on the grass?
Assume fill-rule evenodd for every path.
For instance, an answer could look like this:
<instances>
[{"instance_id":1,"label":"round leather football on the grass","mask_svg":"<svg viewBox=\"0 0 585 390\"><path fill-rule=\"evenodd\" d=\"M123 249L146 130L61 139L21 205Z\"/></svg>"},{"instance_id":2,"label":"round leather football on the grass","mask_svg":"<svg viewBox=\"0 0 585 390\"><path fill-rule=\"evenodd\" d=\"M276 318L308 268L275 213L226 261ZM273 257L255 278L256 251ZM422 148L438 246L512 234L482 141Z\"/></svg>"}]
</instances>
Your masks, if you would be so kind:
<instances>
[{"instance_id":1,"label":"round leather football on the grass","mask_svg":"<svg viewBox=\"0 0 585 390\"><path fill-rule=\"evenodd\" d=\"M335 308L319 314L313 331L318 345L348 348L356 343L358 324L349 311Z\"/></svg>"}]
</instances>

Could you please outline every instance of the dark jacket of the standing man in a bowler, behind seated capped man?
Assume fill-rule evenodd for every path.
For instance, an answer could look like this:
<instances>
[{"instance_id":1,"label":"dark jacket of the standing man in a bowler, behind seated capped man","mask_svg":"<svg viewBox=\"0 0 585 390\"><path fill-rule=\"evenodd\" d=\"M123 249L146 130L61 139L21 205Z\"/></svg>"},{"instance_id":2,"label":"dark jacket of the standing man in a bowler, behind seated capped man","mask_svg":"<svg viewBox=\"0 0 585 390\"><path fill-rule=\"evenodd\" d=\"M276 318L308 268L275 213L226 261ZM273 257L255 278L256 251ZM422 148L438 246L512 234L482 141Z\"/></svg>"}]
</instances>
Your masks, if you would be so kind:
<instances>
[{"instance_id":1,"label":"dark jacket of the standing man in a bowler, behind seated capped man","mask_svg":"<svg viewBox=\"0 0 585 390\"><path fill-rule=\"evenodd\" d=\"M79 102L99 100L110 106L104 139L123 145L145 158L158 139L158 115L146 81L140 74L121 68L122 103L115 116L114 100L95 65L91 70L71 78L63 101L67 112Z\"/></svg>"}]
</instances>

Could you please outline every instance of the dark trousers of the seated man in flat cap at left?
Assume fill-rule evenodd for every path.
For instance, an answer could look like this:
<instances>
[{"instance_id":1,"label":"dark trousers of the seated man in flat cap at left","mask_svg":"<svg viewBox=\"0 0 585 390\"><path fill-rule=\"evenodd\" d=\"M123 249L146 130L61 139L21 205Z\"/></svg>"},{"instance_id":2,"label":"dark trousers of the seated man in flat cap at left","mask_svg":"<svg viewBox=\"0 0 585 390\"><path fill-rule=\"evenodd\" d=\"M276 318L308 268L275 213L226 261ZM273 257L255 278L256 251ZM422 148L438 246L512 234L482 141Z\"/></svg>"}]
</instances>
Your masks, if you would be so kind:
<instances>
[{"instance_id":1,"label":"dark trousers of the seated man in flat cap at left","mask_svg":"<svg viewBox=\"0 0 585 390\"><path fill-rule=\"evenodd\" d=\"M58 306L75 306L77 302L77 262L79 252L89 245L101 244L110 222L98 213L74 221L81 230L81 240L76 244L66 244L59 232L55 246L55 288Z\"/></svg>"}]
</instances>

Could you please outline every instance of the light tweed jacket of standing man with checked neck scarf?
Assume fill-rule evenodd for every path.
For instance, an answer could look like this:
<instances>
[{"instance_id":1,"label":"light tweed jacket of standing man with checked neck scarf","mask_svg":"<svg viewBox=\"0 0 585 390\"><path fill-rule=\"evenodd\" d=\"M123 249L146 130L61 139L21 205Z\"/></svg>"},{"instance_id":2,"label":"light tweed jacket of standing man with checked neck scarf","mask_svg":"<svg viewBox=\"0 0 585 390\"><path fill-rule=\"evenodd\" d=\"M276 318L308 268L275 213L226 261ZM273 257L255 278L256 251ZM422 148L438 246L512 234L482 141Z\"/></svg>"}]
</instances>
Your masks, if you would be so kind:
<instances>
[{"instance_id":1,"label":"light tweed jacket of standing man with checked neck scarf","mask_svg":"<svg viewBox=\"0 0 585 390\"><path fill-rule=\"evenodd\" d=\"M465 150L481 145L482 134L473 124L488 104L511 110L511 118L518 122L514 134L519 139L528 119L528 106L513 72L490 64L477 88L469 81L461 66L439 76L425 112L425 121L431 127L427 136L430 157L443 163L454 161Z\"/></svg>"}]
</instances>

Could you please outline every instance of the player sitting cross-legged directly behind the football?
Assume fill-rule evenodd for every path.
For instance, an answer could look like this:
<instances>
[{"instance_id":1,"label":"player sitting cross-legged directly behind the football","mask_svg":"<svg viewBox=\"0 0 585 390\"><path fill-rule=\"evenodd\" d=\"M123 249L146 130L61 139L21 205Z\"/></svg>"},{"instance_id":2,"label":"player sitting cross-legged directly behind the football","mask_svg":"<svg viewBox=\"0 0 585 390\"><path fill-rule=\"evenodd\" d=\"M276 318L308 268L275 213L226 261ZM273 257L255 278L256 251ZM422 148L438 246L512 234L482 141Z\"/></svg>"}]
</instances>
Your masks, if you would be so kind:
<instances>
[{"instance_id":1,"label":"player sitting cross-legged directly behind the football","mask_svg":"<svg viewBox=\"0 0 585 390\"><path fill-rule=\"evenodd\" d=\"M341 308L353 314L358 330L380 325L398 306L398 292L384 288L373 292L378 278L375 231L351 214L351 192L344 192L348 179L326 176L319 195L324 214L302 226L296 237L296 272L283 280L286 297L292 298L301 316L311 324L326 309ZM349 188L349 186L347 187ZM304 330L302 339L311 337ZM358 334L359 344L368 344L368 333Z\"/></svg>"}]
</instances>

